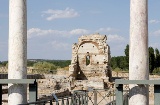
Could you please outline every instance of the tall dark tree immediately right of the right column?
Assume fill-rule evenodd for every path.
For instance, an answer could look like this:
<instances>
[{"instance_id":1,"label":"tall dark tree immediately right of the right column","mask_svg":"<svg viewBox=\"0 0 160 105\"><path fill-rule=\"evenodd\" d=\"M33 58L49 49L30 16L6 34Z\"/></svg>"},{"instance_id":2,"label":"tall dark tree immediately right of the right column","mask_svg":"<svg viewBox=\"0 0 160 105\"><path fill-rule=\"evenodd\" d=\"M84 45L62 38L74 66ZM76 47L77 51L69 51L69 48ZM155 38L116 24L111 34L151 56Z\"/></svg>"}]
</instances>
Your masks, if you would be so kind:
<instances>
[{"instance_id":1,"label":"tall dark tree immediately right of the right column","mask_svg":"<svg viewBox=\"0 0 160 105\"><path fill-rule=\"evenodd\" d=\"M149 50L149 72L152 73L155 68L154 49L152 47L149 47L148 50Z\"/></svg>"}]
</instances>

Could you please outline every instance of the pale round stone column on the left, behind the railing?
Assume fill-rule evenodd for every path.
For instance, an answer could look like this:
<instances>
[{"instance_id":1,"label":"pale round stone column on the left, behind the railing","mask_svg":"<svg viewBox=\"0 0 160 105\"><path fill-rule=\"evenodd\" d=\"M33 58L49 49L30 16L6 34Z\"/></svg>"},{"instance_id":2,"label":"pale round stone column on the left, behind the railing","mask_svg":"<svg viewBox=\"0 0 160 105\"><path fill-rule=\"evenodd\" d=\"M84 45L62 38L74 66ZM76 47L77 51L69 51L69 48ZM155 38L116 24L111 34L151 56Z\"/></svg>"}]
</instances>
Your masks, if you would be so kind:
<instances>
[{"instance_id":1,"label":"pale round stone column on the left, behind the railing","mask_svg":"<svg viewBox=\"0 0 160 105\"><path fill-rule=\"evenodd\" d=\"M26 0L9 0L8 79L27 78ZM27 85L9 84L8 105L27 102Z\"/></svg>"}]
</instances>

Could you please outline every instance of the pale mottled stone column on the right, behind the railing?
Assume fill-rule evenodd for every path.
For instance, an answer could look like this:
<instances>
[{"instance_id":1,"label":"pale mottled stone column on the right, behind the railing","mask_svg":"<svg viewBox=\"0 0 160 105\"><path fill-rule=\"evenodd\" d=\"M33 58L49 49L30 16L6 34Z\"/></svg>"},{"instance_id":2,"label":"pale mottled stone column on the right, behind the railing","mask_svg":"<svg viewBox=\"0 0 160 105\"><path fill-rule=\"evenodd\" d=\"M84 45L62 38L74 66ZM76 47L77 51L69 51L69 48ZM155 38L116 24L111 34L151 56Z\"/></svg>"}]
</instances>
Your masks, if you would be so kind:
<instances>
[{"instance_id":1,"label":"pale mottled stone column on the right, behind the railing","mask_svg":"<svg viewBox=\"0 0 160 105\"><path fill-rule=\"evenodd\" d=\"M148 0L130 0L129 80L148 80ZM148 85L129 85L129 105L148 105Z\"/></svg>"}]
</instances>

